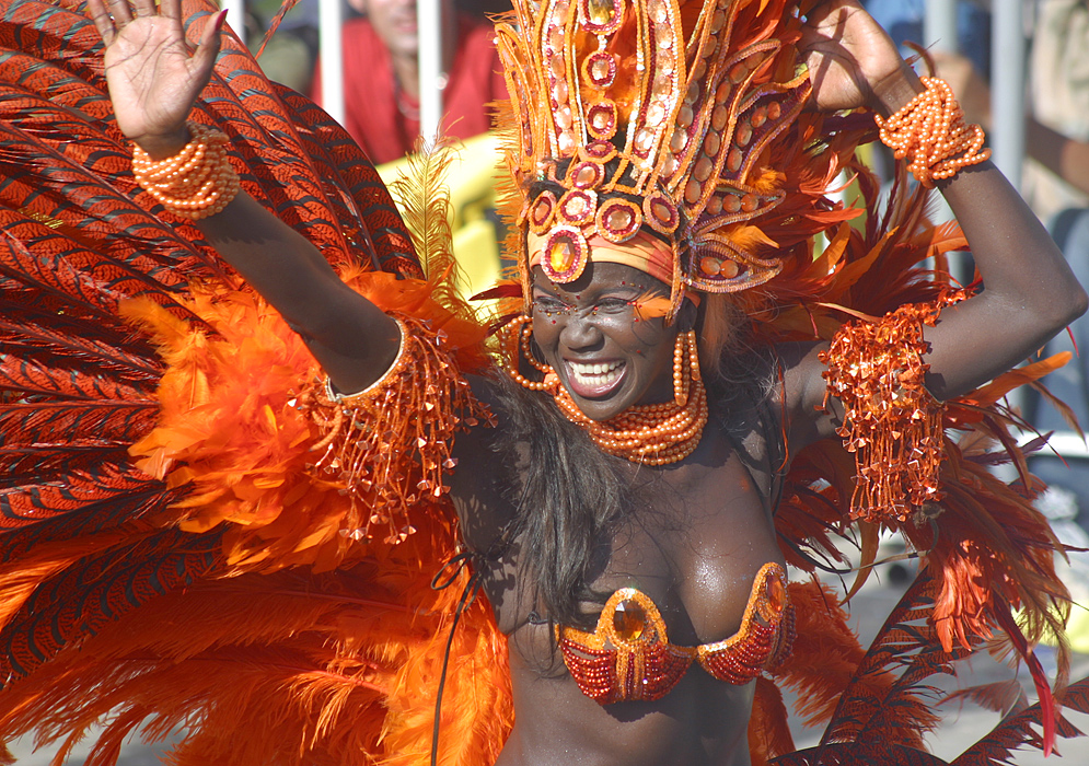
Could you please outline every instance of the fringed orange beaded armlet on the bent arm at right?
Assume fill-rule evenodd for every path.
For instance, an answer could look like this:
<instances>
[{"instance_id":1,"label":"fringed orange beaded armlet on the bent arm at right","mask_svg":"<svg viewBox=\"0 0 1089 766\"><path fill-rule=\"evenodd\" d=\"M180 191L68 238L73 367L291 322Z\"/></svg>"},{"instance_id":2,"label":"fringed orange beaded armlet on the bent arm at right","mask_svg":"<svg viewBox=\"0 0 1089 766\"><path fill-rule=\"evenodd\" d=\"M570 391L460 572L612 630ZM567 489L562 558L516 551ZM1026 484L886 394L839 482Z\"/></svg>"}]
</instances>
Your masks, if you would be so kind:
<instances>
[{"instance_id":1,"label":"fringed orange beaded armlet on the bent arm at right","mask_svg":"<svg viewBox=\"0 0 1089 766\"><path fill-rule=\"evenodd\" d=\"M924 385L923 327L962 294L904 305L878 322L845 324L820 359L829 398L846 410L836 433L855 454L857 471L850 518L905 521L941 498L938 469L943 453L945 405Z\"/></svg>"}]
</instances>

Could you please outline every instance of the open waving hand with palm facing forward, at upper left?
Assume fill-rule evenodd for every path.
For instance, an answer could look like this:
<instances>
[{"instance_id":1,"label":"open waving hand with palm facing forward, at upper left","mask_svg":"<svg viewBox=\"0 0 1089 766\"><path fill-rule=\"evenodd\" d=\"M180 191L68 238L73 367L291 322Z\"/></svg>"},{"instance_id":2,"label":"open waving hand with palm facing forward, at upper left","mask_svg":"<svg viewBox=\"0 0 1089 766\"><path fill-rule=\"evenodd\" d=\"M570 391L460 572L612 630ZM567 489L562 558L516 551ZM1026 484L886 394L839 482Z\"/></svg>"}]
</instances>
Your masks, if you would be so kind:
<instances>
[{"instance_id":1,"label":"open waving hand with palm facing forward, at upper left","mask_svg":"<svg viewBox=\"0 0 1089 766\"><path fill-rule=\"evenodd\" d=\"M196 51L185 40L181 0L88 0L106 44L105 69L117 126L154 159L189 140L185 120L208 84L219 53L221 11Z\"/></svg>"}]
</instances>

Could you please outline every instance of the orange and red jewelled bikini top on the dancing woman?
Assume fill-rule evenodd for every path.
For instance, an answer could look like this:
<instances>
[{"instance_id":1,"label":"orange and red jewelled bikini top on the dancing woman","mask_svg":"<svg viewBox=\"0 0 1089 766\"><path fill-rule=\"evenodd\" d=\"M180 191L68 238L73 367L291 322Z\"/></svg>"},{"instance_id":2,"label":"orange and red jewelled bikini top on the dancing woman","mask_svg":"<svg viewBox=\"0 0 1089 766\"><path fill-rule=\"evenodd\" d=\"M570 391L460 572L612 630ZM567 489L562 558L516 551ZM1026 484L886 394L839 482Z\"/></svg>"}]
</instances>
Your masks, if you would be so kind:
<instances>
[{"instance_id":1,"label":"orange and red jewelled bikini top on the dancing woman","mask_svg":"<svg viewBox=\"0 0 1089 766\"><path fill-rule=\"evenodd\" d=\"M634 588L610 596L593 632L557 625L556 641L575 683L602 705L664 697L693 660L719 681L743 685L789 654L793 610L786 584L781 566L761 567L741 629L714 643L670 643L654 602Z\"/></svg>"}]
</instances>

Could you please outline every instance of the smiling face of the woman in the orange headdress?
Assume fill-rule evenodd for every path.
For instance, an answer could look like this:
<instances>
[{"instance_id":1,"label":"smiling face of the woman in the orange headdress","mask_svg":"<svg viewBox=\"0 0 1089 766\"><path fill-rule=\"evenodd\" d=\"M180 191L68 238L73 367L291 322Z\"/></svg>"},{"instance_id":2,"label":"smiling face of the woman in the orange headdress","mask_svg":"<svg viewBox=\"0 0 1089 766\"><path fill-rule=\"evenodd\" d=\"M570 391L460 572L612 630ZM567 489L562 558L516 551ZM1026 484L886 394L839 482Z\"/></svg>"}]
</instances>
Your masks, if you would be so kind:
<instances>
[{"instance_id":1,"label":"smiling face of the woman in the orange headdress","mask_svg":"<svg viewBox=\"0 0 1089 766\"><path fill-rule=\"evenodd\" d=\"M587 264L574 282L555 285L533 269L533 339L582 413L607 420L636 404L673 398L677 324L639 320L636 299L669 288L622 264Z\"/></svg>"}]
</instances>

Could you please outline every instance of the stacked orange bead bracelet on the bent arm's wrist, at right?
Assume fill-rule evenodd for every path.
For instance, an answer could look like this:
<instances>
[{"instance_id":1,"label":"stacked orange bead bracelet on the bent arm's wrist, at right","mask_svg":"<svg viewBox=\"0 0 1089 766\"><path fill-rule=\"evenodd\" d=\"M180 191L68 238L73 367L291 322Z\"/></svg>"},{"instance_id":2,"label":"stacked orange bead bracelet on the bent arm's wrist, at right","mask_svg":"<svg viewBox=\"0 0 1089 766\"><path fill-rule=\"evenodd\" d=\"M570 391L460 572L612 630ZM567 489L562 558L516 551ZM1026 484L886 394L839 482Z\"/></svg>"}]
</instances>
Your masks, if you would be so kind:
<instances>
[{"instance_id":1,"label":"stacked orange bead bracelet on the bent arm's wrist, at right","mask_svg":"<svg viewBox=\"0 0 1089 766\"><path fill-rule=\"evenodd\" d=\"M908 170L927 188L951 178L962 167L990 158L983 149L983 128L964 123L964 113L949 84L939 78L922 78L926 90L888 119L874 117L881 142L897 160L908 159ZM982 150L982 151L981 151Z\"/></svg>"}]
</instances>

